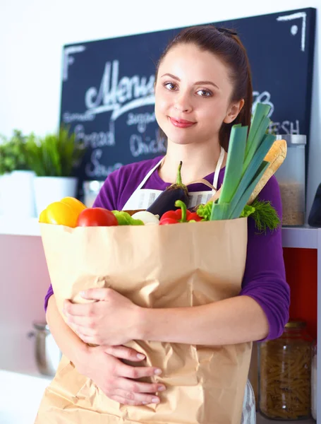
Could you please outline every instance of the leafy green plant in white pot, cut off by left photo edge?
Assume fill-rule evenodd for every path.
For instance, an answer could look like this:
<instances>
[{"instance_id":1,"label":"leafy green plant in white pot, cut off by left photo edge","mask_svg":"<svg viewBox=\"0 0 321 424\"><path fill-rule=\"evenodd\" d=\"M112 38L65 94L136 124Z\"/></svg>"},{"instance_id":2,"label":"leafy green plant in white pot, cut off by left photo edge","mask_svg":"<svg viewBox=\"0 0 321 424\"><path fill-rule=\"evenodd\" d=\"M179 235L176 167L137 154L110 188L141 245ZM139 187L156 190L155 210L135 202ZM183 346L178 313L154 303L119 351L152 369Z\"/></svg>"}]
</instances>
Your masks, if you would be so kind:
<instances>
[{"instance_id":1,"label":"leafy green plant in white pot, cut off by left photo edge","mask_svg":"<svg viewBox=\"0 0 321 424\"><path fill-rule=\"evenodd\" d=\"M7 139L0 136L0 204L1 213L35 216L34 177L28 163L28 143L15 129Z\"/></svg>"}]
</instances>

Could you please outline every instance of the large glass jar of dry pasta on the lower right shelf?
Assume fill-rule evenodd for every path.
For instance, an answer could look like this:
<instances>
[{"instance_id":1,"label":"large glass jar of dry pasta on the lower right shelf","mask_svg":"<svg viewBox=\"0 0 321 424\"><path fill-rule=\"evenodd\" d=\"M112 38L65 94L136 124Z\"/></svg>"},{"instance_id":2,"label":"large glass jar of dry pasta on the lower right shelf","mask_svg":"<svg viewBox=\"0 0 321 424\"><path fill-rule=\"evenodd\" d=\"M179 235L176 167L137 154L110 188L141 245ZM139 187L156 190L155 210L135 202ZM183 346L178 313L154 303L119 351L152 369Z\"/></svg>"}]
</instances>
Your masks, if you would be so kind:
<instances>
[{"instance_id":1,"label":"large glass jar of dry pasta on the lower right shelf","mask_svg":"<svg viewBox=\"0 0 321 424\"><path fill-rule=\"evenodd\" d=\"M275 340L260 343L260 413L274 420L311 415L312 338L305 322L290 321Z\"/></svg>"}]
</instances>

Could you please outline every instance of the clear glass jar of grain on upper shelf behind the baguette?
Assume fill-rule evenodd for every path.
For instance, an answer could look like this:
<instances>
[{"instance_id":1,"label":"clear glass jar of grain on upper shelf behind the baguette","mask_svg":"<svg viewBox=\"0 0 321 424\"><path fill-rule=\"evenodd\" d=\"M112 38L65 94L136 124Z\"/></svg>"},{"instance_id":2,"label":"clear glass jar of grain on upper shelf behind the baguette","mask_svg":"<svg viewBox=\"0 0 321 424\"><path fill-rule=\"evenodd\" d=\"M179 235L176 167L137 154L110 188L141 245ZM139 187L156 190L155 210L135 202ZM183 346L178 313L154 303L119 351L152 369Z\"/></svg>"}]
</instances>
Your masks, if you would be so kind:
<instances>
[{"instance_id":1,"label":"clear glass jar of grain on upper shelf behind the baguette","mask_svg":"<svg viewBox=\"0 0 321 424\"><path fill-rule=\"evenodd\" d=\"M284 163L275 172L282 201L282 225L305 223L305 144L306 136L279 134L287 146Z\"/></svg>"}]
</instances>

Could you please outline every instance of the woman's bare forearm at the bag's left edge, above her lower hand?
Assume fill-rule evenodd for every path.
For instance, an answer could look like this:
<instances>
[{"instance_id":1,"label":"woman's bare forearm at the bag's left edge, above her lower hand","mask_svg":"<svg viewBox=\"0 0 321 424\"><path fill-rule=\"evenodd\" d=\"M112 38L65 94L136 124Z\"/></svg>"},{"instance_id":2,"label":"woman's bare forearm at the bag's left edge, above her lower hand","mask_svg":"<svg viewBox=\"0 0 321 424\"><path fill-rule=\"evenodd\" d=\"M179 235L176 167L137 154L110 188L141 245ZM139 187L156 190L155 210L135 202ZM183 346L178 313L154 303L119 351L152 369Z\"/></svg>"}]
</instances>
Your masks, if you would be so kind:
<instances>
[{"instance_id":1,"label":"woman's bare forearm at the bag's left edge, above her lower hand","mask_svg":"<svg viewBox=\"0 0 321 424\"><path fill-rule=\"evenodd\" d=\"M61 352L76 365L78 360L80 360L80 356L85 353L87 344L80 340L66 322L63 321L56 306L54 295L49 298L46 318L52 336Z\"/></svg>"}]
</instances>

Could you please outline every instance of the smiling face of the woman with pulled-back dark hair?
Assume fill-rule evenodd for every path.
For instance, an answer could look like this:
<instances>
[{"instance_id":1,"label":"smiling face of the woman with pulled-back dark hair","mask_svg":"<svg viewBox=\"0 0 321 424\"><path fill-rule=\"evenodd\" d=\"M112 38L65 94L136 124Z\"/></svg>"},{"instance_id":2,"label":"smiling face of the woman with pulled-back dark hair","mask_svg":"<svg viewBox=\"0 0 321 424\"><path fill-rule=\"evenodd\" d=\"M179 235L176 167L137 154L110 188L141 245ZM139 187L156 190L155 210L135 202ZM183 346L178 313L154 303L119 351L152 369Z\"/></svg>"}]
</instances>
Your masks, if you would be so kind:
<instances>
[{"instance_id":1,"label":"smiling face of the woman with pulled-back dark hair","mask_svg":"<svg viewBox=\"0 0 321 424\"><path fill-rule=\"evenodd\" d=\"M228 69L214 54L193 44L173 47L159 65L157 123L172 143L218 141L222 122L240 110L230 104L232 90Z\"/></svg>"}]
</instances>

